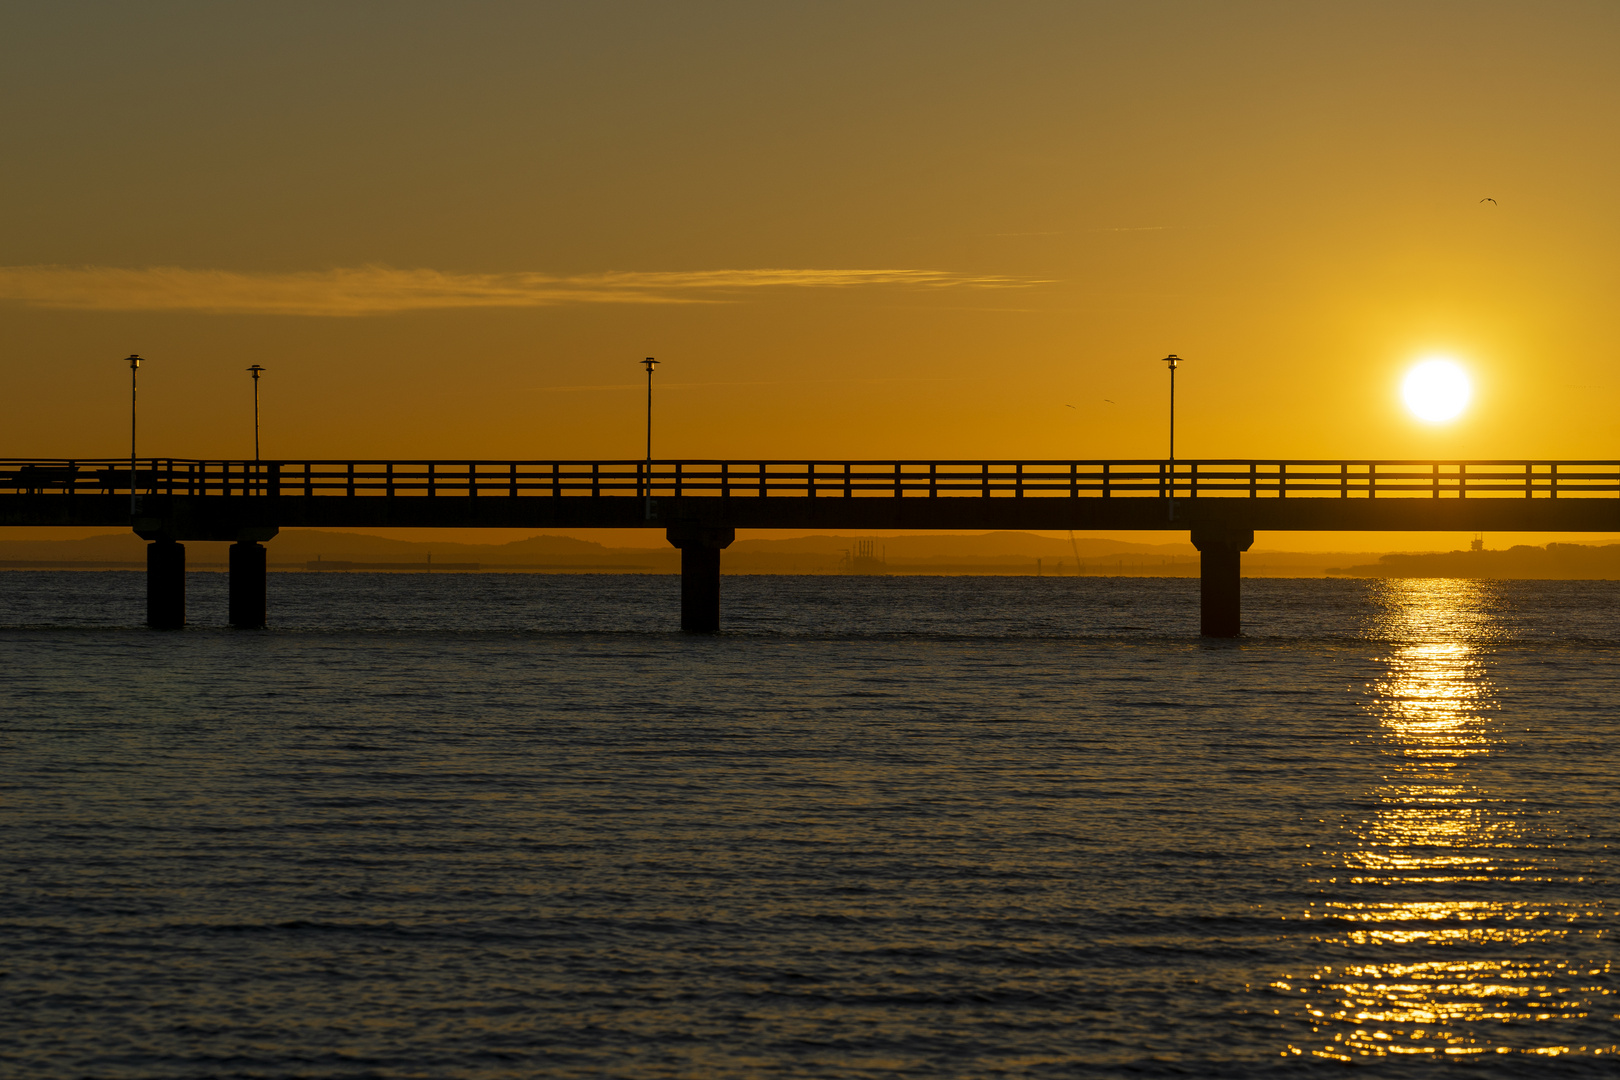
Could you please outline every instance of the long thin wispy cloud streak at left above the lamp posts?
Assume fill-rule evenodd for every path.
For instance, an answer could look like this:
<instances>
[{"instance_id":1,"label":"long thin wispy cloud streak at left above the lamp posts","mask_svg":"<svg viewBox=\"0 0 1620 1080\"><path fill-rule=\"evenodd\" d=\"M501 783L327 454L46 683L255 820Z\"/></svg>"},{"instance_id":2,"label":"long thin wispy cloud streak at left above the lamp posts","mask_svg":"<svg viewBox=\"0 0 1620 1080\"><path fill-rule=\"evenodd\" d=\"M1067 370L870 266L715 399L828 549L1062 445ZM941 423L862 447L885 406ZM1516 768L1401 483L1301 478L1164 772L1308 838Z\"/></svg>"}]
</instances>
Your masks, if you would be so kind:
<instances>
[{"instance_id":1,"label":"long thin wispy cloud streak at left above the lamp posts","mask_svg":"<svg viewBox=\"0 0 1620 1080\"><path fill-rule=\"evenodd\" d=\"M444 274L382 266L292 274L178 267L0 267L0 301L78 311L374 316L442 308L729 303L757 288L1016 288L1037 282L944 270L676 270Z\"/></svg>"}]
</instances>

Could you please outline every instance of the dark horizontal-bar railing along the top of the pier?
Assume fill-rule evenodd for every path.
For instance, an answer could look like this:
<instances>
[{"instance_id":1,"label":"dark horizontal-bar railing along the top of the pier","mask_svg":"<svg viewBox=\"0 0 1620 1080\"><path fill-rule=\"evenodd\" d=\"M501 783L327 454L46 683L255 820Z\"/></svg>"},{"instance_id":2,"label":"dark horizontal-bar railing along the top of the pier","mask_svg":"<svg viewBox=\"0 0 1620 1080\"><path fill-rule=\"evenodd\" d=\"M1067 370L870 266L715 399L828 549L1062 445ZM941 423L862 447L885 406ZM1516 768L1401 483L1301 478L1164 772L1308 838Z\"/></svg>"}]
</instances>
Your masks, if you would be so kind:
<instances>
[{"instance_id":1,"label":"dark horizontal-bar railing along the top of the pier","mask_svg":"<svg viewBox=\"0 0 1620 1080\"><path fill-rule=\"evenodd\" d=\"M716 499L1591 499L1620 461L219 461L0 460L16 494Z\"/></svg>"}]
</instances>

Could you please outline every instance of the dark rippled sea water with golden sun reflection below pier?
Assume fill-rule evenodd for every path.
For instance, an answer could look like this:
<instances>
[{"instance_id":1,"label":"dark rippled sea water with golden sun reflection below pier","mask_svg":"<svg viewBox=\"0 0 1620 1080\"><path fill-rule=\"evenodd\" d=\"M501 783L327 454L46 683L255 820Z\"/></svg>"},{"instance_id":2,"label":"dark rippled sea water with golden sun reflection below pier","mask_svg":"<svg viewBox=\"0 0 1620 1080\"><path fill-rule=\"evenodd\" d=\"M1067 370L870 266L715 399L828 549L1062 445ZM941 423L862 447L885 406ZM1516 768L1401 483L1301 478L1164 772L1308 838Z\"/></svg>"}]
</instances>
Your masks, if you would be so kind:
<instances>
[{"instance_id":1,"label":"dark rippled sea water with golden sun reflection below pier","mask_svg":"<svg viewBox=\"0 0 1620 1080\"><path fill-rule=\"evenodd\" d=\"M224 585L0 575L0 1072L1615 1075L1617 583Z\"/></svg>"}]
</instances>

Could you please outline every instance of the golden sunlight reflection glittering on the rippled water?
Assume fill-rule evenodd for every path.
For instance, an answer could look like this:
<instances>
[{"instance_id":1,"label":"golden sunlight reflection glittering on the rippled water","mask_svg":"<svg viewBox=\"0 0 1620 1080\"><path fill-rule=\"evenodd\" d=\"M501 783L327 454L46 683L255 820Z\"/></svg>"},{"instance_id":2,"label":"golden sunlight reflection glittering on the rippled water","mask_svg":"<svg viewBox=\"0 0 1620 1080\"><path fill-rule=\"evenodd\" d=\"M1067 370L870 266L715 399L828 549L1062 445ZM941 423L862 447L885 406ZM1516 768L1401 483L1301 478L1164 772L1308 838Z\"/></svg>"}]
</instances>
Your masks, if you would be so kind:
<instances>
[{"instance_id":1,"label":"golden sunlight reflection glittering on the rippled water","mask_svg":"<svg viewBox=\"0 0 1620 1080\"><path fill-rule=\"evenodd\" d=\"M1599 984L1607 960L1570 959L1601 955L1570 941L1573 923L1599 912L1558 887L1576 879L1557 866L1555 811L1481 776L1507 750L1489 662L1503 636L1494 586L1382 588L1375 633L1392 646L1362 704L1387 771L1345 850L1317 868L1335 899L1304 913L1324 923L1315 941L1346 960L1273 983L1301 996L1315 1035L1285 1056L1617 1052L1547 1038L1609 1022L1617 1002Z\"/></svg>"}]
</instances>

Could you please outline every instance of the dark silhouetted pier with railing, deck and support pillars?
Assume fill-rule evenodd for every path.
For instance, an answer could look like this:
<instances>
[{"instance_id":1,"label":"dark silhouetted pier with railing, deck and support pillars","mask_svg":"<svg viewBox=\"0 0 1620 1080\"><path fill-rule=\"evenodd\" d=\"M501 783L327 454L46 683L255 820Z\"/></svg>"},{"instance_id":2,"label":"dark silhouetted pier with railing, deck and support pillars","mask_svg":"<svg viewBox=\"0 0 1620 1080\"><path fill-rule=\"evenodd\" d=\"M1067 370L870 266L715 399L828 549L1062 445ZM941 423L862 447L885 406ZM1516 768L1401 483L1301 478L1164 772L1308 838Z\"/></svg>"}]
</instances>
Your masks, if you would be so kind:
<instances>
[{"instance_id":1,"label":"dark silhouetted pier with railing, deck and support pillars","mask_svg":"<svg viewBox=\"0 0 1620 1080\"><path fill-rule=\"evenodd\" d=\"M1620 461L37 458L0 460L0 525L133 528L159 628L185 623L186 541L232 542L230 623L256 628L282 528L663 528L690 631L719 628L739 528L1157 529L1199 549L1202 633L1238 636L1257 529L1615 533Z\"/></svg>"}]
</instances>

